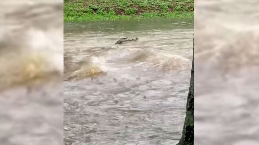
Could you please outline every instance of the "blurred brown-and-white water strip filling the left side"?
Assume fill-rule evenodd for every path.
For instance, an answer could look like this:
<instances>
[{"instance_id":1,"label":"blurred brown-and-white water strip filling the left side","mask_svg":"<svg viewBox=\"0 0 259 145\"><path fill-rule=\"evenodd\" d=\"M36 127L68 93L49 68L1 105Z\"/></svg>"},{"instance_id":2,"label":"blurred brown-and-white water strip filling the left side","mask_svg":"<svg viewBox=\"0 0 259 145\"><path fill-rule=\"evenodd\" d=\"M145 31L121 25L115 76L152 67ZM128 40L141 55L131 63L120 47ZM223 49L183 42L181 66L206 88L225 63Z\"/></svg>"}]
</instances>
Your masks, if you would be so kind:
<instances>
[{"instance_id":1,"label":"blurred brown-and-white water strip filling the left side","mask_svg":"<svg viewBox=\"0 0 259 145\"><path fill-rule=\"evenodd\" d=\"M0 2L0 144L63 144L63 1Z\"/></svg>"}]
</instances>

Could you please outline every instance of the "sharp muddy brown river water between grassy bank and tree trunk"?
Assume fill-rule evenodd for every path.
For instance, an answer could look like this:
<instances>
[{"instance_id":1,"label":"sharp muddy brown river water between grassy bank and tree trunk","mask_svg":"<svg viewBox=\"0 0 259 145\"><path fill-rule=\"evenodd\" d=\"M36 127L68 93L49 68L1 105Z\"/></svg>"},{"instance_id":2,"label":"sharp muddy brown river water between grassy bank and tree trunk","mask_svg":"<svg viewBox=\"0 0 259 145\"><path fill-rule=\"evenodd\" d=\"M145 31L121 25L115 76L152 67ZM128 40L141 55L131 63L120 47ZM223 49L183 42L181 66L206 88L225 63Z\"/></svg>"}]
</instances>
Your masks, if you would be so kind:
<instances>
[{"instance_id":1,"label":"sharp muddy brown river water between grassy bank and tree trunk","mask_svg":"<svg viewBox=\"0 0 259 145\"><path fill-rule=\"evenodd\" d=\"M64 23L64 143L176 144L192 48L193 19Z\"/></svg>"}]
</instances>

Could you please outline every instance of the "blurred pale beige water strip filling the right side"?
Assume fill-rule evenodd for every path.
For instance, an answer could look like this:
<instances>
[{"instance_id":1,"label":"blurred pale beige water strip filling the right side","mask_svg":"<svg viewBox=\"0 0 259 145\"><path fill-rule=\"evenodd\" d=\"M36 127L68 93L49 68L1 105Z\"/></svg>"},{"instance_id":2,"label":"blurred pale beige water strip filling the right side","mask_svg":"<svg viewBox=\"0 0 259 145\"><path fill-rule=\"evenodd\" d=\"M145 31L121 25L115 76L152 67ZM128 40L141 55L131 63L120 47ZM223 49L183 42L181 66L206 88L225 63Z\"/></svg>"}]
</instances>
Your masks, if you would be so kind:
<instances>
[{"instance_id":1,"label":"blurred pale beige water strip filling the right side","mask_svg":"<svg viewBox=\"0 0 259 145\"><path fill-rule=\"evenodd\" d=\"M194 3L194 144L259 144L259 2Z\"/></svg>"}]
</instances>

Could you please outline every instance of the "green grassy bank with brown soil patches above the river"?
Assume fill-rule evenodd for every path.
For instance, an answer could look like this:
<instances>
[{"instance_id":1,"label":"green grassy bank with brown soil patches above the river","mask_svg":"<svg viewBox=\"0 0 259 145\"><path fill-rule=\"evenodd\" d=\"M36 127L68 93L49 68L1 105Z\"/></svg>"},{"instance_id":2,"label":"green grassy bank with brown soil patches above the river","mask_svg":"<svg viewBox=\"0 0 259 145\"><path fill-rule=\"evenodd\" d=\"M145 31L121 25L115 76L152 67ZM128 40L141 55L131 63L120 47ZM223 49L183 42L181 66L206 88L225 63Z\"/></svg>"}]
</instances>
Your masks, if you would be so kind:
<instances>
[{"instance_id":1,"label":"green grassy bank with brown soil patches above the river","mask_svg":"<svg viewBox=\"0 0 259 145\"><path fill-rule=\"evenodd\" d=\"M64 0L64 21L192 18L193 0Z\"/></svg>"}]
</instances>

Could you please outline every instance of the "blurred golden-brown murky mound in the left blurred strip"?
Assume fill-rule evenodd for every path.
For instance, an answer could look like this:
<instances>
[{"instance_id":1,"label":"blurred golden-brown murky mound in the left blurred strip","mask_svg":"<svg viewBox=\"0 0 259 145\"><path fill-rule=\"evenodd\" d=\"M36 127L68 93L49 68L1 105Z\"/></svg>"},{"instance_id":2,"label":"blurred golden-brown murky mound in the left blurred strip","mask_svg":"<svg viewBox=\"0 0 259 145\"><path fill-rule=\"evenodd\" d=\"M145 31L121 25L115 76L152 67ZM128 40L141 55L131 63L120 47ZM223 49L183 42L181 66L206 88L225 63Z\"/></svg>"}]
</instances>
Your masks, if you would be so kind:
<instances>
[{"instance_id":1,"label":"blurred golden-brown murky mound in the left blurred strip","mask_svg":"<svg viewBox=\"0 0 259 145\"><path fill-rule=\"evenodd\" d=\"M0 91L57 80L60 73L39 53L6 52L0 58Z\"/></svg>"}]
</instances>

